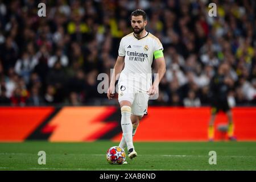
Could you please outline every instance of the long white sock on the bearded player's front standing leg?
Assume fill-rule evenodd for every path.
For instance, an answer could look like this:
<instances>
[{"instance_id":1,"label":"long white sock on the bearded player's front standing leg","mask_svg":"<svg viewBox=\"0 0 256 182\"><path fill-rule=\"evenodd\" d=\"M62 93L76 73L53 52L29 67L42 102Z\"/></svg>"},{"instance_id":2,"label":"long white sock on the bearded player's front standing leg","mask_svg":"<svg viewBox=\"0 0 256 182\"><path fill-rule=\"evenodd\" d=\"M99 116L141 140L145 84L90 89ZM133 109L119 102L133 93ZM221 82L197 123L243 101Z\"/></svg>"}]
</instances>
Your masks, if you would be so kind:
<instances>
[{"instance_id":1,"label":"long white sock on the bearded player's front standing leg","mask_svg":"<svg viewBox=\"0 0 256 182\"><path fill-rule=\"evenodd\" d=\"M123 130L123 137L127 144L128 150L134 148L133 146L133 125L131 124L131 107L122 106L121 107L121 126ZM121 141L122 142L122 141ZM120 143L121 144L121 143Z\"/></svg>"}]
</instances>

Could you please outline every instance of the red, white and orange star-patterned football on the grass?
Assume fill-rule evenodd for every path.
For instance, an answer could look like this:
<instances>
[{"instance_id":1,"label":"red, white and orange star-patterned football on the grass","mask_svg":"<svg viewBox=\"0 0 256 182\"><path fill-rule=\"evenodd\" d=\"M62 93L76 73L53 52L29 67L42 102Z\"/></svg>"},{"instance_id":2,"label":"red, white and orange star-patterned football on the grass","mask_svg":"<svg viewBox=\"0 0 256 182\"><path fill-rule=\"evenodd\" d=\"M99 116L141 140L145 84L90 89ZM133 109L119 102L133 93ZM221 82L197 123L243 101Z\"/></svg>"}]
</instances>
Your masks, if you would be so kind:
<instances>
[{"instance_id":1,"label":"red, white and orange star-patterned football on the grass","mask_svg":"<svg viewBox=\"0 0 256 182\"><path fill-rule=\"evenodd\" d=\"M125 151L118 146L110 147L106 152L106 160L109 164L122 164L125 162Z\"/></svg>"}]
</instances>

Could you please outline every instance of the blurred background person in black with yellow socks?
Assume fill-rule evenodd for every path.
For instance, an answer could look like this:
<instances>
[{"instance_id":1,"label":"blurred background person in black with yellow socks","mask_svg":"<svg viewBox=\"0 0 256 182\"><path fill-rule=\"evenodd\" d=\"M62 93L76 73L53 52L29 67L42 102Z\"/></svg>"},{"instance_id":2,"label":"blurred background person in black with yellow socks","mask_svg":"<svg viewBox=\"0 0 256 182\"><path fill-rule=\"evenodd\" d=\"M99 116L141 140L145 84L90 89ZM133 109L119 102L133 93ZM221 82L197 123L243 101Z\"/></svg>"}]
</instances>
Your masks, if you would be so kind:
<instances>
[{"instance_id":1,"label":"blurred background person in black with yellow socks","mask_svg":"<svg viewBox=\"0 0 256 182\"><path fill-rule=\"evenodd\" d=\"M228 103L228 92L232 88L234 81L229 77L229 64L222 63L218 67L216 76L210 82L210 97L212 105L212 114L210 116L208 138L213 141L214 138L214 120L218 111L222 110L228 116L228 137L229 140L236 140L234 137L234 123L232 119L232 111Z\"/></svg>"}]
</instances>

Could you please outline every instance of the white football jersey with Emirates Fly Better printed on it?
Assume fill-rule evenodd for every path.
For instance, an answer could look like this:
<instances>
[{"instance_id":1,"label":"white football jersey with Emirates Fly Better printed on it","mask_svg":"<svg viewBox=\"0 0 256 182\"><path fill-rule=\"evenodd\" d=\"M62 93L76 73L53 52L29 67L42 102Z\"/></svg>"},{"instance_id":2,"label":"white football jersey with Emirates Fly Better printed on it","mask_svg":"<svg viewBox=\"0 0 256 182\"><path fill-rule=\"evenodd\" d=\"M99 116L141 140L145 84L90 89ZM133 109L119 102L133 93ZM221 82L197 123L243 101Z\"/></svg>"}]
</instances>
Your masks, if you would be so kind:
<instances>
[{"instance_id":1,"label":"white football jersey with Emirates Fly Better printed on it","mask_svg":"<svg viewBox=\"0 0 256 182\"><path fill-rule=\"evenodd\" d=\"M120 80L134 80L139 82L139 91L146 92L151 86L151 65L154 52L163 50L162 43L151 33L138 39L134 32L124 36L120 42L118 56L125 57L125 68L120 74Z\"/></svg>"}]
</instances>

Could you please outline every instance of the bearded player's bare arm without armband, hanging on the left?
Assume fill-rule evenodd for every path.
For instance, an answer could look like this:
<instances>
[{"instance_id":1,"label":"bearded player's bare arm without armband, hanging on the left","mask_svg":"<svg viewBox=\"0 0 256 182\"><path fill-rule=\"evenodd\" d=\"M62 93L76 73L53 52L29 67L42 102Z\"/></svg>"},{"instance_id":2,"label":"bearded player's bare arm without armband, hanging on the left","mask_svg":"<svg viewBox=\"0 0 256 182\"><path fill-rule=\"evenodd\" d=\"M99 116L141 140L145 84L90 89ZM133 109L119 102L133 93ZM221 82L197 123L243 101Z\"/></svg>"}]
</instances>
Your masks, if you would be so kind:
<instances>
[{"instance_id":1,"label":"bearded player's bare arm without armband, hanging on the left","mask_svg":"<svg viewBox=\"0 0 256 182\"><path fill-rule=\"evenodd\" d=\"M118 56L117 61L115 62L115 66L113 69L113 74L110 80L110 85L108 89L108 98L112 99L114 97L114 92L115 92L115 80L117 78L117 75L121 73L123 69L123 63L125 63L125 56Z\"/></svg>"}]
</instances>

